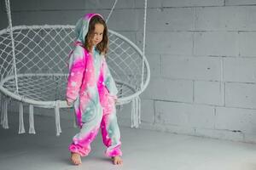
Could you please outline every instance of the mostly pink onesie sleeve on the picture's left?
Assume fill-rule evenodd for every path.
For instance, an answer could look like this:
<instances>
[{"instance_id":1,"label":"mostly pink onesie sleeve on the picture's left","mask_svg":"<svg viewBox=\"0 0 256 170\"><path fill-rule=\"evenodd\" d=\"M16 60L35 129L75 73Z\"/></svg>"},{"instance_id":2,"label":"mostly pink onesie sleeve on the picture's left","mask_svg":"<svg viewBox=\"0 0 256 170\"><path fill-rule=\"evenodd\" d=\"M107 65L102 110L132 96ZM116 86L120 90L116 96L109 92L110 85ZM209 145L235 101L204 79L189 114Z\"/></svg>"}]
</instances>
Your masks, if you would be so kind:
<instances>
[{"instance_id":1,"label":"mostly pink onesie sleeve on the picture's left","mask_svg":"<svg viewBox=\"0 0 256 170\"><path fill-rule=\"evenodd\" d=\"M84 57L84 48L80 46L77 46L73 50L73 53L70 54L66 92L67 101L70 103L73 103L73 101L76 100L79 95L85 70Z\"/></svg>"}]
</instances>

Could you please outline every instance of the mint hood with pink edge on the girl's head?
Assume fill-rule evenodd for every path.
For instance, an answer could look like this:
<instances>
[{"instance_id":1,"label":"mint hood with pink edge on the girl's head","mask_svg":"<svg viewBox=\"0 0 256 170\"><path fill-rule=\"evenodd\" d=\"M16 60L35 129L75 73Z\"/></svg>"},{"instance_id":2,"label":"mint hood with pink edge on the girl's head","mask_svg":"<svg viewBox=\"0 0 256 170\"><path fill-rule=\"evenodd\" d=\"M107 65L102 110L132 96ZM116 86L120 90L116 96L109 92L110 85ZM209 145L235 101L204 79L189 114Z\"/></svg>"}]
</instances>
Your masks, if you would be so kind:
<instances>
[{"instance_id":1,"label":"mint hood with pink edge on the girl's head","mask_svg":"<svg viewBox=\"0 0 256 170\"><path fill-rule=\"evenodd\" d=\"M84 44L84 38L88 32L89 29L89 23L90 19L98 15L102 17L101 14L85 14L84 17L80 18L75 26L75 33L76 33L76 41L77 42L82 42ZM102 17L103 19L103 17Z\"/></svg>"}]
</instances>

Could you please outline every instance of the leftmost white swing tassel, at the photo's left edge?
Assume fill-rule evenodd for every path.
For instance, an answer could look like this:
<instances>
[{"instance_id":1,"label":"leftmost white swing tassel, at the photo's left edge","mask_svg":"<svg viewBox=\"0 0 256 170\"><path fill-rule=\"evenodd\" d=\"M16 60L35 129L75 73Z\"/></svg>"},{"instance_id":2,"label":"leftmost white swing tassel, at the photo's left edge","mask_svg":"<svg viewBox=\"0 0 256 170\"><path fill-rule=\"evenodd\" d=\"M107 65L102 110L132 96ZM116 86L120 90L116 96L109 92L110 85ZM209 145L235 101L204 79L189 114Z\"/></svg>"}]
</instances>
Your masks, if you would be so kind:
<instances>
[{"instance_id":1,"label":"leftmost white swing tassel, at the photo's left edge","mask_svg":"<svg viewBox=\"0 0 256 170\"><path fill-rule=\"evenodd\" d=\"M8 129L8 103L9 99L1 95L1 125L4 129Z\"/></svg>"}]
</instances>

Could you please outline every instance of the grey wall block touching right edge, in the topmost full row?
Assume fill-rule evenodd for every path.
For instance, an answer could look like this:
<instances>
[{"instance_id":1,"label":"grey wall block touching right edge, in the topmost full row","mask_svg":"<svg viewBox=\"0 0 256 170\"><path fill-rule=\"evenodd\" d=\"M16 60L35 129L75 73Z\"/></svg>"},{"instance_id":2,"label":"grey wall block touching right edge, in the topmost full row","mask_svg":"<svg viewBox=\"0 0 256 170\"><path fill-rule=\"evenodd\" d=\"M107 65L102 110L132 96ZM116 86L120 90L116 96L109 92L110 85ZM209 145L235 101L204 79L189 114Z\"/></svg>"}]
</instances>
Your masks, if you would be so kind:
<instances>
[{"instance_id":1,"label":"grey wall block touching right edge, in the topmost full row","mask_svg":"<svg viewBox=\"0 0 256 170\"><path fill-rule=\"evenodd\" d=\"M256 28L255 15L254 7L195 8L195 30L253 31Z\"/></svg>"}]
</instances>

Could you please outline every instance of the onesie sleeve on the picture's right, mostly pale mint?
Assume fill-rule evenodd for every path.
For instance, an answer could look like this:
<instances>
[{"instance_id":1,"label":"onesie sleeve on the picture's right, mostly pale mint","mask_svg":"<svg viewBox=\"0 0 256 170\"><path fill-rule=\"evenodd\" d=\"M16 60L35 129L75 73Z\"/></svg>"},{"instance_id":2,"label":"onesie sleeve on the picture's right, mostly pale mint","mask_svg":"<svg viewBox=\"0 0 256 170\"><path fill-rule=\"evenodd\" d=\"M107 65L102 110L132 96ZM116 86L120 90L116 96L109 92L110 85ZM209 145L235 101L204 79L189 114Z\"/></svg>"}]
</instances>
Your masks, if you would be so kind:
<instances>
[{"instance_id":1,"label":"onesie sleeve on the picture's right, mostly pale mint","mask_svg":"<svg viewBox=\"0 0 256 170\"><path fill-rule=\"evenodd\" d=\"M117 97L117 94L119 91L118 91L118 88L116 87L116 84L113 80L111 72L108 69L106 59L103 60L103 65L104 65L104 72L105 72L104 84L105 84L106 88L108 88L109 94L114 97Z\"/></svg>"}]
</instances>

